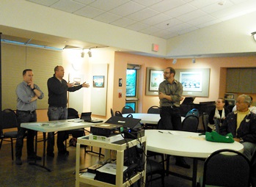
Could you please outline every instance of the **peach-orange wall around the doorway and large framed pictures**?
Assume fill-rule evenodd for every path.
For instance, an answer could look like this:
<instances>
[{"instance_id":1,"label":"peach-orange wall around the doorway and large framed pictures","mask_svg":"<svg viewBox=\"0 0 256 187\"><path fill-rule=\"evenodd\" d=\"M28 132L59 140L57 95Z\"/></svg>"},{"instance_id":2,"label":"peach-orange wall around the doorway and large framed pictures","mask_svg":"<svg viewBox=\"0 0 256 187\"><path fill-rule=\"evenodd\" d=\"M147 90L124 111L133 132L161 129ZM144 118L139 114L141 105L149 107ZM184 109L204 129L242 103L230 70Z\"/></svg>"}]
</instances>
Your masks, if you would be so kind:
<instances>
[{"instance_id":1,"label":"peach-orange wall around the doorway and large framed pictures","mask_svg":"<svg viewBox=\"0 0 256 187\"><path fill-rule=\"evenodd\" d=\"M209 97L196 98L194 103L212 101L216 98L224 97L226 92L226 68L227 67L256 67L256 56L240 57L215 57L199 58L193 64L191 59L178 59L175 65L172 65L172 59L157 59L147 56L137 56L133 54L124 54L116 52L114 59L114 92L113 92L113 110L121 110L125 106L125 70L127 64L142 65L139 91L139 112L146 113L150 106L158 106L158 96L145 95L146 87L146 68L156 67L174 67L175 69L194 69L210 68L210 87ZM122 78L122 87L118 87L118 79ZM249 83L253 84L253 83ZM122 89L122 98L118 98L118 89ZM256 100L256 94L250 94Z\"/></svg>"}]
</instances>

